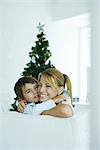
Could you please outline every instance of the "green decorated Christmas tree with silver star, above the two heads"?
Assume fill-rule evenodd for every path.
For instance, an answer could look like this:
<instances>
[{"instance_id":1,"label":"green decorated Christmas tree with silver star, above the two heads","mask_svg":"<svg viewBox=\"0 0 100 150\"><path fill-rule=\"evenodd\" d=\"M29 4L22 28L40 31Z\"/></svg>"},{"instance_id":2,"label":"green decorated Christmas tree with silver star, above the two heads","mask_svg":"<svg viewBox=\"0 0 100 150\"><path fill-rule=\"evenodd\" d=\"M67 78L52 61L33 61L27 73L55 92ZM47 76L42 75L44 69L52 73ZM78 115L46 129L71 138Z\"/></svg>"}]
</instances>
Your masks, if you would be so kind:
<instances>
[{"instance_id":1,"label":"green decorated Christmas tree with silver star, above the two heads","mask_svg":"<svg viewBox=\"0 0 100 150\"><path fill-rule=\"evenodd\" d=\"M35 41L35 46L32 46L29 52L30 62L27 63L27 67L24 68L22 76L32 76L38 78L40 72L46 70L47 68L53 68L51 61L48 59L51 56L51 52L48 49L49 42L44 34L44 25L37 26L39 33L37 34L37 40Z\"/></svg>"}]
</instances>

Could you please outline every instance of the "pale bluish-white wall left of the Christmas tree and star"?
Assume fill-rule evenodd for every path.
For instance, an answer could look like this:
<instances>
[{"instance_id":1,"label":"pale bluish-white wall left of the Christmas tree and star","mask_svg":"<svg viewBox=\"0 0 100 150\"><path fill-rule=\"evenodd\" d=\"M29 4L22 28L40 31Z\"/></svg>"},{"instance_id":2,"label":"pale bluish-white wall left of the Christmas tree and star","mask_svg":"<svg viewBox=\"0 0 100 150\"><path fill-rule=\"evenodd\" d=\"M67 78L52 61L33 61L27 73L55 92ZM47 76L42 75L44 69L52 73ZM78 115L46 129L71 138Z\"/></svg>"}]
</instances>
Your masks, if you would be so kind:
<instances>
[{"instance_id":1,"label":"pale bluish-white wall left of the Christmas tree and star","mask_svg":"<svg viewBox=\"0 0 100 150\"><path fill-rule=\"evenodd\" d=\"M13 91L16 80L29 60L38 22L52 22L51 1L0 1L0 93ZM2 22L2 23L1 23Z\"/></svg>"}]
</instances>

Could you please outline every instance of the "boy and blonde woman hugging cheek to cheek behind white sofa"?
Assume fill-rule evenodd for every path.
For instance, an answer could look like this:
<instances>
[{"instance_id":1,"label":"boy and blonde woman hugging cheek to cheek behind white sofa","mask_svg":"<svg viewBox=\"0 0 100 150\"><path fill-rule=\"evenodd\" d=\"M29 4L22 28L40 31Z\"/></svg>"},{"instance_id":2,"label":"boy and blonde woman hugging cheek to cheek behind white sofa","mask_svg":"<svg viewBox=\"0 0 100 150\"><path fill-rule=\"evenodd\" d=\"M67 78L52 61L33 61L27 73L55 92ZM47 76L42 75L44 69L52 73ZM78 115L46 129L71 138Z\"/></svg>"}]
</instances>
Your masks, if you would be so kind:
<instances>
[{"instance_id":1,"label":"boy and blonde woman hugging cheek to cheek behind white sofa","mask_svg":"<svg viewBox=\"0 0 100 150\"><path fill-rule=\"evenodd\" d=\"M14 86L17 111L30 115L73 116L70 78L55 68L42 71L38 80L22 77Z\"/></svg>"}]
</instances>

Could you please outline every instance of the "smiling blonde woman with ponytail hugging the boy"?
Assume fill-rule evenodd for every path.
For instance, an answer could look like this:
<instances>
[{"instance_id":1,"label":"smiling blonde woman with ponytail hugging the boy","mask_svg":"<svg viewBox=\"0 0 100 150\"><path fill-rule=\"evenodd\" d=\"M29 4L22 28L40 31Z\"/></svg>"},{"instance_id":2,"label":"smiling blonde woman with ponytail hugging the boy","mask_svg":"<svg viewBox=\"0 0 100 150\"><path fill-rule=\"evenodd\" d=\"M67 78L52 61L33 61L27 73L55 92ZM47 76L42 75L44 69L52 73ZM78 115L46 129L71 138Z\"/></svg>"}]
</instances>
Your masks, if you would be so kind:
<instances>
[{"instance_id":1,"label":"smiling blonde woman with ponytail hugging the boy","mask_svg":"<svg viewBox=\"0 0 100 150\"><path fill-rule=\"evenodd\" d=\"M53 99L56 103L55 107L42 112L42 115L51 115L55 117L73 116L72 87L69 77L55 68L49 68L39 74L38 80L40 82L38 87L40 101L43 102L48 99ZM66 98L64 96L65 87L67 91ZM60 99L56 99L56 97L59 96ZM19 102L18 111L21 112L24 107L24 102Z\"/></svg>"}]
</instances>

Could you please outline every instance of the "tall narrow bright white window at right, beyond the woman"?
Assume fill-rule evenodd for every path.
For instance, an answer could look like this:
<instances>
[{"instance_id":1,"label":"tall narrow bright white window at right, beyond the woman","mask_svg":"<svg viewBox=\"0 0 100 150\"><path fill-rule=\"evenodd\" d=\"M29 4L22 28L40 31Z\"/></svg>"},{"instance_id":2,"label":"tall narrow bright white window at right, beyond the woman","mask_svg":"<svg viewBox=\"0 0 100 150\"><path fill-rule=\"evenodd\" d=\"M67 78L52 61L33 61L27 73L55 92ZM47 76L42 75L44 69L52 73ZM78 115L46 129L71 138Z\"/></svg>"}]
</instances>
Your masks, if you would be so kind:
<instances>
[{"instance_id":1,"label":"tall narrow bright white window at right, beyond the woman","mask_svg":"<svg viewBox=\"0 0 100 150\"><path fill-rule=\"evenodd\" d=\"M90 93L90 27L80 28L80 100L81 103L88 102Z\"/></svg>"}]
</instances>

